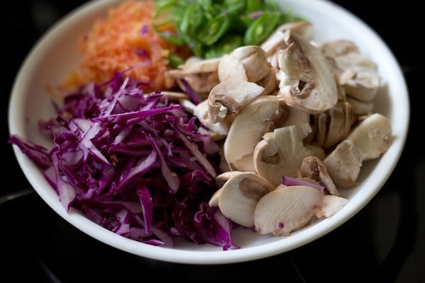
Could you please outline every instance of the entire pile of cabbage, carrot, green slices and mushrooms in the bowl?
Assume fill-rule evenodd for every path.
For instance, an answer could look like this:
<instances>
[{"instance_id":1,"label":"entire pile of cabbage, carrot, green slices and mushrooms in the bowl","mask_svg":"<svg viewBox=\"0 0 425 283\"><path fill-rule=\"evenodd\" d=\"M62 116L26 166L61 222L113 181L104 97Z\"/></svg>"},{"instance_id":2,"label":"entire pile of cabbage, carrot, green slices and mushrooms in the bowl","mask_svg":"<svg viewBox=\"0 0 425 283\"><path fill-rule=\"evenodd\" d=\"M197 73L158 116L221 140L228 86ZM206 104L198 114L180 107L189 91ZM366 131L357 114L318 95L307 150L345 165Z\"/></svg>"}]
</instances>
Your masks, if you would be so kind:
<instances>
[{"instance_id":1,"label":"entire pile of cabbage, carrot, green slices and mushrooms in the bowl","mask_svg":"<svg viewBox=\"0 0 425 283\"><path fill-rule=\"evenodd\" d=\"M152 14L149 14L152 13ZM44 149L11 136L65 209L135 241L237 249L348 202L391 144L374 62L274 1L126 1L96 21Z\"/></svg>"}]
</instances>

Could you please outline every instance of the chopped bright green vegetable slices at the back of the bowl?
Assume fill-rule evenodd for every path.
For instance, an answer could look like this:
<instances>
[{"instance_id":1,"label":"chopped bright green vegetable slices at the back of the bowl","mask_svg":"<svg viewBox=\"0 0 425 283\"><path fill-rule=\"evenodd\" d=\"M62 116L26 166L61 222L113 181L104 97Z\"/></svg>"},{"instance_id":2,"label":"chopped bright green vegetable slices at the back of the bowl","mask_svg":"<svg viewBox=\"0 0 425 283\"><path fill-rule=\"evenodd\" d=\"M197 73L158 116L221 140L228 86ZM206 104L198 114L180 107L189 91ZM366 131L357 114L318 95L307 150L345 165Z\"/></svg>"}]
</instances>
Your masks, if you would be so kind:
<instances>
[{"instance_id":1,"label":"chopped bright green vegetable slices at the back of the bowl","mask_svg":"<svg viewBox=\"0 0 425 283\"><path fill-rule=\"evenodd\" d=\"M187 45L201 58L220 57L242 45L261 45L283 23L298 21L276 0L159 0L154 30L174 45ZM161 30L173 23L176 33Z\"/></svg>"}]
</instances>

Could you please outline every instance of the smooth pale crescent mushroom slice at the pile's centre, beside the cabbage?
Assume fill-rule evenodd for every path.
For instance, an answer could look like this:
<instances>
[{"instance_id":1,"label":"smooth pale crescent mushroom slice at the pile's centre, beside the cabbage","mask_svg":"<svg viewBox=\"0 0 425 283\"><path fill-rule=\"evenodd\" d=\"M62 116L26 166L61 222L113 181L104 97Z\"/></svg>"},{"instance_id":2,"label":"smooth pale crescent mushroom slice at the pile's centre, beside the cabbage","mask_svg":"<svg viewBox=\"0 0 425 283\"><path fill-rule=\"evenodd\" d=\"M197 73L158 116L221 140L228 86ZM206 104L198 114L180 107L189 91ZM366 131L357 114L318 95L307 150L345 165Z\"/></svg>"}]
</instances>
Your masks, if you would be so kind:
<instances>
[{"instance_id":1,"label":"smooth pale crescent mushroom slice at the pile's centre, beside the cabbage","mask_svg":"<svg viewBox=\"0 0 425 283\"><path fill-rule=\"evenodd\" d=\"M239 112L225 139L224 152L232 170L255 172L252 154L278 114L276 96L259 96Z\"/></svg>"}]
</instances>

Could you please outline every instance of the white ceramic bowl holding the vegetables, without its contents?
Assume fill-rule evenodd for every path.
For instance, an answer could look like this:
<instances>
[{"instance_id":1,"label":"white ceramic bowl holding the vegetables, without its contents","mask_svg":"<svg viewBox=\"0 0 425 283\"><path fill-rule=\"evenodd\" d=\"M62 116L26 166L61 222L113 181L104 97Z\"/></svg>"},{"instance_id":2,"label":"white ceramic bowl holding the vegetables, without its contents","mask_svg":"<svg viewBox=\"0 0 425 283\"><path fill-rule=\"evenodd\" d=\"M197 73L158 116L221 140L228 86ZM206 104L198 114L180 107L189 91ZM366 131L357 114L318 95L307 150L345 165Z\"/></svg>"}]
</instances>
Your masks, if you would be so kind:
<instances>
[{"instance_id":1,"label":"white ceramic bowl holding the vegetables, without its contents","mask_svg":"<svg viewBox=\"0 0 425 283\"><path fill-rule=\"evenodd\" d=\"M69 71L77 68L79 53L77 40L86 33L95 18L106 16L109 7L119 1L91 1L56 23L30 51L18 72L11 93L8 122L11 134L44 144L49 141L38 132L37 121L54 115L45 83L61 81ZM188 264L223 264L266 258L310 243L336 229L376 195L394 170L402 153L409 124L409 98L402 71L385 42L356 16L322 0L282 0L285 8L293 8L298 15L310 20L314 27L314 40L324 42L348 39L356 42L365 56L378 64L384 87L378 93L375 112L390 119L394 140L380 158L363 164L358 178L359 185L351 190L341 190L349 202L339 212L317 221L290 236L260 236L249 229L237 229L233 233L239 250L223 251L221 247L197 245L184 240L175 248L162 248L138 243L103 229L86 219L79 212L65 212L55 190L50 187L41 171L22 152L14 147L23 173L40 197L66 221L84 233L110 246L145 258Z\"/></svg>"}]
</instances>

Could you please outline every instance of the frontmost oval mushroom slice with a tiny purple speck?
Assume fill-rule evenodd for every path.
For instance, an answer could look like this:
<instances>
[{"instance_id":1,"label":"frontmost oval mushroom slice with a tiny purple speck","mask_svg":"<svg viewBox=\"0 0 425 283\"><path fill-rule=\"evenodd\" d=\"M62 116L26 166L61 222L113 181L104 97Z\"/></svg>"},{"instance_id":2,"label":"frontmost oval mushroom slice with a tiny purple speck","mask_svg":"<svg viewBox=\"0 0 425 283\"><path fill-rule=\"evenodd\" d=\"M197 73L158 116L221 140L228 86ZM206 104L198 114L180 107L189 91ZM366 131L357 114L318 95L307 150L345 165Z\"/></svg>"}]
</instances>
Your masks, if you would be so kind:
<instances>
[{"instance_id":1,"label":"frontmost oval mushroom slice with a tiny purple speck","mask_svg":"<svg viewBox=\"0 0 425 283\"><path fill-rule=\"evenodd\" d=\"M314 216L314 207L323 202L323 192L305 185L278 185L261 197L254 210L254 226L258 233L288 236L304 228Z\"/></svg>"}]
</instances>

